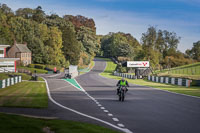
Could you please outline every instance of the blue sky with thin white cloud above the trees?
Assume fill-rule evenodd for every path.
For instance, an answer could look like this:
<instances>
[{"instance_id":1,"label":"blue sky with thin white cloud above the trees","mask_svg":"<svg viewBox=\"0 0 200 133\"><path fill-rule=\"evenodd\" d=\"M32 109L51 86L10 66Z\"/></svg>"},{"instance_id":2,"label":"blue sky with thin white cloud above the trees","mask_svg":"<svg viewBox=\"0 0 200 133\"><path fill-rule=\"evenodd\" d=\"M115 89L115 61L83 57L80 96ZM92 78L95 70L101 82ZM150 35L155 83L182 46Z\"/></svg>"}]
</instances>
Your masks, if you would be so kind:
<instances>
[{"instance_id":1,"label":"blue sky with thin white cloud above the trees","mask_svg":"<svg viewBox=\"0 0 200 133\"><path fill-rule=\"evenodd\" d=\"M97 34L131 33L139 42L149 26L175 32L178 50L200 40L200 0L0 0L13 11L41 6L46 14L93 18Z\"/></svg>"}]
</instances>

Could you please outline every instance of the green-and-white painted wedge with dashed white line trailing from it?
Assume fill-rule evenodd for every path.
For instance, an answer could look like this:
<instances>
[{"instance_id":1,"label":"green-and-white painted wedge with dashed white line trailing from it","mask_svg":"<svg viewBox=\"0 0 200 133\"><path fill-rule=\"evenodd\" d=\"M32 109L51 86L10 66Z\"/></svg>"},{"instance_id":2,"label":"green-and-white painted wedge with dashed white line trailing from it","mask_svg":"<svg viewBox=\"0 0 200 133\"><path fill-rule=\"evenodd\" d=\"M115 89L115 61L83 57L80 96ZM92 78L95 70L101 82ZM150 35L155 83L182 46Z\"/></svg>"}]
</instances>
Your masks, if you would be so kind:
<instances>
[{"instance_id":1,"label":"green-and-white painted wedge with dashed white line trailing from it","mask_svg":"<svg viewBox=\"0 0 200 133\"><path fill-rule=\"evenodd\" d=\"M80 91L83 91L89 98L91 98L98 107L100 107L101 110L103 110L105 113L107 113L108 116L112 117L112 120L114 122L119 122L118 118L113 117L113 114L109 113L108 110L105 109L105 107L103 107L95 98L93 98L92 96L90 96L90 94L88 94L80 85L79 83L75 80L75 79L63 79L65 81L67 81L69 84L71 84L72 86L74 86L75 88L79 89ZM124 132L126 133L132 133L130 130L126 129L125 126L122 123L118 123L117 124L118 127L125 129Z\"/></svg>"}]
</instances>

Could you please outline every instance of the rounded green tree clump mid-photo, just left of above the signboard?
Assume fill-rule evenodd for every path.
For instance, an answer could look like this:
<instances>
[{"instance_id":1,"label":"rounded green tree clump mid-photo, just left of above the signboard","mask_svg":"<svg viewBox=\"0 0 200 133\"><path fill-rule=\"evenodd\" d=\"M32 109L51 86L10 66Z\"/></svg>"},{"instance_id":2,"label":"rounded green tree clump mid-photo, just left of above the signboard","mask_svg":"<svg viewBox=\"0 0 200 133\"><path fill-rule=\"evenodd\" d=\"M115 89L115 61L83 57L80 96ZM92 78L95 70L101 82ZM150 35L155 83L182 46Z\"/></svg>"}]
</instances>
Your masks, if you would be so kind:
<instances>
[{"instance_id":1,"label":"rounded green tree clump mid-photo, just left of above the signboard","mask_svg":"<svg viewBox=\"0 0 200 133\"><path fill-rule=\"evenodd\" d=\"M134 59L141 45L130 34L110 33L101 39L101 50L105 57L129 57Z\"/></svg>"}]
</instances>

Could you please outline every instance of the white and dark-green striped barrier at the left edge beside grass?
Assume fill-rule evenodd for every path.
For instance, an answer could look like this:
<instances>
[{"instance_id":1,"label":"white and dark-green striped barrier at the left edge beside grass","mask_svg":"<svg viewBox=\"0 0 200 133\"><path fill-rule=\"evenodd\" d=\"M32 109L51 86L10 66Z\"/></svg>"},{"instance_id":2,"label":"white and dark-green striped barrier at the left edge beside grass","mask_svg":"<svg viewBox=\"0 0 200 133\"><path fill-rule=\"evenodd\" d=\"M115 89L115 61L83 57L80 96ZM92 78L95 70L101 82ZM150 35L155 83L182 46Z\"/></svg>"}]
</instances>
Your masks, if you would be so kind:
<instances>
[{"instance_id":1,"label":"white and dark-green striped barrier at the left edge beside grass","mask_svg":"<svg viewBox=\"0 0 200 133\"><path fill-rule=\"evenodd\" d=\"M6 88L19 82L22 82L22 76L14 76L11 78L3 79L0 80L0 88Z\"/></svg>"}]
</instances>

